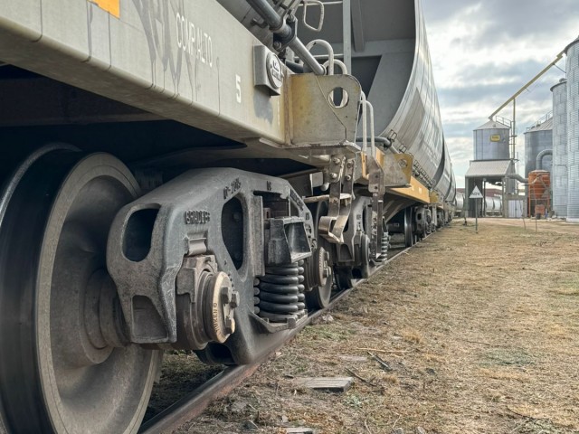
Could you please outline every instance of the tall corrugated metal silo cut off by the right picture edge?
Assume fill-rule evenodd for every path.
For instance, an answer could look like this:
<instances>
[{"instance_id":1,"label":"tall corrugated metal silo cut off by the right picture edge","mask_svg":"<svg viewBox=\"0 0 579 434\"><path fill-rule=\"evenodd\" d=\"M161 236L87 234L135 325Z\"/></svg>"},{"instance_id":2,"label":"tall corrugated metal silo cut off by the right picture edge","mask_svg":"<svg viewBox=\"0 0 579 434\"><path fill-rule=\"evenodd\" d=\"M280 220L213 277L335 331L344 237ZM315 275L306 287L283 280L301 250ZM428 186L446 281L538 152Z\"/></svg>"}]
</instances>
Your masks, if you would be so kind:
<instances>
[{"instance_id":1,"label":"tall corrugated metal silo cut off by the right picture edge","mask_svg":"<svg viewBox=\"0 0 579 434\"><path fill-rule=\"evenodd\" d=\"M579 38L567 54L567 222L579 223Z\"/></svg>"}]
</instances>

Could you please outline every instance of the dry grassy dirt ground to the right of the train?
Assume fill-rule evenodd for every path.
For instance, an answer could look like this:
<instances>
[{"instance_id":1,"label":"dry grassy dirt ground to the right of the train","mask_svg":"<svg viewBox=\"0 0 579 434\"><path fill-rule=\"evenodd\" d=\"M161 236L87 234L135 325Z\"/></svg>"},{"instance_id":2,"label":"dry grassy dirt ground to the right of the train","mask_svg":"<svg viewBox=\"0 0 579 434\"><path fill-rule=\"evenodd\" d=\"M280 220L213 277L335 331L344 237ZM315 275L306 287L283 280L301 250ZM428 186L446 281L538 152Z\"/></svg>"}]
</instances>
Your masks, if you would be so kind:
<instances>
[{"instance_id":1,"label":"dry grassy dirt ground to the right of the train","mask_svg":"<svg viewBox=\"0 0 579 434\"><path fill-rule=\"evenodd\" d=\"M578 257L577 225L454 221L176 432L579 433Z\"/></svg>"}]
</instances>

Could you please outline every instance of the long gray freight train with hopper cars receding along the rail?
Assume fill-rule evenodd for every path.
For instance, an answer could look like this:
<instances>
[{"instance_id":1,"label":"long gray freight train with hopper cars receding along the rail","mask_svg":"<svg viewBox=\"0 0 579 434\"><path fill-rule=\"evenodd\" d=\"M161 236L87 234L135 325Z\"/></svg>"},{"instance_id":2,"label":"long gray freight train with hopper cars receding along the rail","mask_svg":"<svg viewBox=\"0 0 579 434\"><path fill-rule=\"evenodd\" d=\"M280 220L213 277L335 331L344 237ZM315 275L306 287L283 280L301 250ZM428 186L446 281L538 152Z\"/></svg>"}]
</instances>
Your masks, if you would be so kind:
<instances>
[{"instance_id":1,"label":"long gray freight train with hopper cars receding along the rail","mask_svg":"<svg viewBox=\"0 0 579 434\"><path fill-rule=\"evenodd\" d=\"M0 2L0 431L136 432L449 222L419 0Z\"/></svg>"}]
</instances>

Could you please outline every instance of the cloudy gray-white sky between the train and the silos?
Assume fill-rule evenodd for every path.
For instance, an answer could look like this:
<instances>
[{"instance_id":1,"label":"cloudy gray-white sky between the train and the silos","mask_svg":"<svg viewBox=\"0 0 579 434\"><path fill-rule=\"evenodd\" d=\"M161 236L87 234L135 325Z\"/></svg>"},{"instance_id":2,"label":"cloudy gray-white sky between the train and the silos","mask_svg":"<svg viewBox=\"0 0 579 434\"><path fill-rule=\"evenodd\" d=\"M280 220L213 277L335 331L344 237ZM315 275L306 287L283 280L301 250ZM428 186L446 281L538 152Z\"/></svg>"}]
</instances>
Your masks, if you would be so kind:
<instances>
[{"instance_id":1,"label":"cloudy gray-white sky between the train and the silos","mask_svg":"<svg viewBox=\"0 0 579 434\"><path fill-rule=\"evenodd\" d=\"M472 130L579 35L578 0L422 0L444 135L457 184L473 159ZM524 132L552 109L565 56L517 98L517 153ZM512 104L499 113L512 118Z\"/></svg>"}]
</instances>

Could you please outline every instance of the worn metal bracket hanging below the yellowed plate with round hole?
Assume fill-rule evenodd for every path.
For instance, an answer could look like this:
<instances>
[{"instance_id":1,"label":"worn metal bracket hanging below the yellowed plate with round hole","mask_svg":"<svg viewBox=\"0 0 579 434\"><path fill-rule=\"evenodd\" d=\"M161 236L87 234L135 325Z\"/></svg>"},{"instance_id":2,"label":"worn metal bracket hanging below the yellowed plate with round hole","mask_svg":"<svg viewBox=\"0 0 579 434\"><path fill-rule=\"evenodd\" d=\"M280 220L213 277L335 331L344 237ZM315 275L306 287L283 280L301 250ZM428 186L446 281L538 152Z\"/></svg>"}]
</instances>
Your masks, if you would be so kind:
<instances>
[{"instance_id":1,"label":"worn metal bracket hanging below the yellowed plate with round hole","mask_svg":"<svg viewBox=\"0 0 579 434\"><path fill-rule=\"evenodd\" d=\"M330 184L327 215L319 219L318 231L332 243L344 242L344 229L354 201L356 159L346 159L341 182Z\"/></svg>"}]
</instances>

